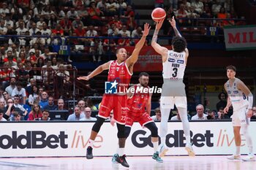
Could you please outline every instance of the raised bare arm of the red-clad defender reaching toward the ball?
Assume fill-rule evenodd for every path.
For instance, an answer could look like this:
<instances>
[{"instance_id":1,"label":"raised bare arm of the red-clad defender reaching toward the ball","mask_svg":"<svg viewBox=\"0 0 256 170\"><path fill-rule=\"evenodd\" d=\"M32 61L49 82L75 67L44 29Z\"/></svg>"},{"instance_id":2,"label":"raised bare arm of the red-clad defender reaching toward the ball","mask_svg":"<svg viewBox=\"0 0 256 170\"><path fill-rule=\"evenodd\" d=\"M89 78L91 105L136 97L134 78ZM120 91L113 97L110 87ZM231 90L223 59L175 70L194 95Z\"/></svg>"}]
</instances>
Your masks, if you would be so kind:
<instances>
[{"instance_id":1,"label":"raised bare arm of the red-clad defender reaching toward the ball","mask_svg":"<svg viewBox=\"0 0 256 170\"><path fill-rule=\"evenodd\" d=\"M145 44L146 36L148 36L150 26L148 23L144 24L143 36L140 38L140 41L135 45L135 50L133 50L132 55L127 59L127 66L130 66L138 61L138 56L141 48Z\"/></svg>"}]
</instances>

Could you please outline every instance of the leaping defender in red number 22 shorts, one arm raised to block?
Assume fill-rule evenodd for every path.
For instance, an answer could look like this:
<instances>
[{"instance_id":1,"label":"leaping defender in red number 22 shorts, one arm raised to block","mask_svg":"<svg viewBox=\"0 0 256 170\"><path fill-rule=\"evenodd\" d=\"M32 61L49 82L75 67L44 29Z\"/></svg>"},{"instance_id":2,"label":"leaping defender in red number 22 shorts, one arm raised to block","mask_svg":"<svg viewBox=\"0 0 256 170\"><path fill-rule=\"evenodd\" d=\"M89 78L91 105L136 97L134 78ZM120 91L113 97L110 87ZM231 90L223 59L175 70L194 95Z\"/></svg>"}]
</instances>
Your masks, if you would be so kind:
<instances>
[{"instance_id":1,"label":"leaping defender in red number 22 shorts, one arm raised to block","mask_svg":"<svg viewBox=\"0 0 256 170\"><path fill-rule=\"evenodd\" d=\"M108 72L108 82L118 83L117 88L128 88L130 78L132 76L133 66L138 61L138 55L140 53L141 48L143 47L146 36L150 27L148 23L144 24L143 36L140 38L140 41L137 45L135 45L135 50L133 50L132 55L127 58L127 50L124 48L120 48L116 51L116 61L108 61L108 63L104 63L101 66L98 66L89 76L86 77L78 77L78 80L89 80L90 78L100 74L104 70L109 70ZM119 88L120 87L120 88ZM121 93L120 93L121 92ZM96 123L92 127L91 136L89 139L90 146L87 148L86 158L93 158L92 155L92 147L94 144L94 139L96 138L100 127L104 123L105 119L109 117L110 111L113 109L113 117L116 120L117 128L118 128L118 154L114 157L113 161L117 161L121 163L122 166L129 167L129 164L125 160L124 155L124 144L125 144L125 132L124 132L124 124L125 117L127 111L127 95L122 93L123 91L117 91L117 93L107 94L105 93L102 98L102 104L99 109L99 116L97 118ZM122 156L119 156L122 155Z\"/></svg>"}]
</instances>

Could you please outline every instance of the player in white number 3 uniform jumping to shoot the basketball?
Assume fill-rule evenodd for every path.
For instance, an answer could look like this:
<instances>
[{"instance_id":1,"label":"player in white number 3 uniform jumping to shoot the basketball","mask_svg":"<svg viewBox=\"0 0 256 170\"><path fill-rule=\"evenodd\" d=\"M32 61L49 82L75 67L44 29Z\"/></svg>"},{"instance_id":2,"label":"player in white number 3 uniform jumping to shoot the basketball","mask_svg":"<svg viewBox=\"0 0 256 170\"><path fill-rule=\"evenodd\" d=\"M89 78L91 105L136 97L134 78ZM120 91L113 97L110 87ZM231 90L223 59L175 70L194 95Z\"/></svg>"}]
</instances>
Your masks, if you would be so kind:
<instances>
[{"instance_id":1,"label":"player in white number 3 uniform jumping to shoot the basketball","mask_svg":"<svg viewBox=\"0 0 256 170\"><path fill-rule=\"evenodd\" d=\"M173 27L176 36L173 37L172 47L173 50L168 50L166 47L162 47L157 44L157 34L162 27L164 20L157 22L154 36L152 38L151 45L154 50L162 55L162 77L164 83L162 85L162 94L160 99L161 109L161 123L160 123L160 156L164 156L167 152L166 146L166 134L167 134L167 122L170 115L170 109L176 105L181 117L184 134L186 137L186 147L189 156L195 156L195 152L192 150L190 143L190 128L189 120L187 119L187 96L185 92L185 85L183 83L184 71L187 65L187 58L189 56L189 50L187 50L187 42L184 37L178 32L176 28L176 21L174 17L169 20L170 25Z\"/></svg>"}]
</instances>

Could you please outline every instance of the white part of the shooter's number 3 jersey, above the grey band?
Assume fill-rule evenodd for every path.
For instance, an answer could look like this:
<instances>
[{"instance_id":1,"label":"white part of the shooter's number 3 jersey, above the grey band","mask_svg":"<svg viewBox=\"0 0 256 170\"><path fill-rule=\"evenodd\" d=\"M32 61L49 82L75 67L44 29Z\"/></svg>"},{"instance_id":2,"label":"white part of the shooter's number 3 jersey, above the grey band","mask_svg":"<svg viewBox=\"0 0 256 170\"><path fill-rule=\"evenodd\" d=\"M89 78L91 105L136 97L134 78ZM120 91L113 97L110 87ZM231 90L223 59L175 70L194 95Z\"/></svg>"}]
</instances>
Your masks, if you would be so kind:
<instances>
[{"instance_id":1,"label":"white part of the shooter's number 3 jersey, above the grey band","mask_svg":"<svg viewBox=\"0 0 256 170\"><path fill-rule=\"evenodd\" d=\"M162 77L164 80L183 80L186 69L186 53L168 50L167 60L162 63Z\"/></svg>"}]
</instances>

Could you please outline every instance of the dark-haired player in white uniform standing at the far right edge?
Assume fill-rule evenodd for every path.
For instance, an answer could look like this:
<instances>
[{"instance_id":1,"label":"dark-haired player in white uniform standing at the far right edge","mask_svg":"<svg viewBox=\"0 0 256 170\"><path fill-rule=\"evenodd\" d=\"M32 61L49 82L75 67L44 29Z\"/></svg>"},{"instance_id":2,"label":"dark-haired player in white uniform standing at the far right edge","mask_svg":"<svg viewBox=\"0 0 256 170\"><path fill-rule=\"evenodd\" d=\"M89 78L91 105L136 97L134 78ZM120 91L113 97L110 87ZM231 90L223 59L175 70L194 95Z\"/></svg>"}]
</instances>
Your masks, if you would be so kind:
<instances>
[{"instance_id":1,"label":"dark-haired player in white uniform standing at the far right edge","mask_svg":"<svg viewBox=\"0 0 256 170\"><path fill-rule=\"evenodd\" d=\"M249 119L252 117L252 103L253 96L249 88L246 87L244 82L236 78L236 67L227 66L227 82L225 83L225 90L227 91L227 106L224 112L227 113L229 107L233 106L233 133L235 136L236 143L236 153L227 157L231 160L241 159L240 146L241 146L241 136L244 134L246 139L246 144L249 149L249 158L243 158L243 161L256 161L255 155L252 150L252 138L249 136Z\"/></svg>"}]
</instances>

